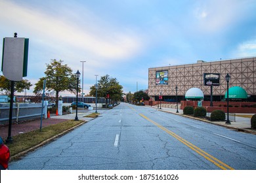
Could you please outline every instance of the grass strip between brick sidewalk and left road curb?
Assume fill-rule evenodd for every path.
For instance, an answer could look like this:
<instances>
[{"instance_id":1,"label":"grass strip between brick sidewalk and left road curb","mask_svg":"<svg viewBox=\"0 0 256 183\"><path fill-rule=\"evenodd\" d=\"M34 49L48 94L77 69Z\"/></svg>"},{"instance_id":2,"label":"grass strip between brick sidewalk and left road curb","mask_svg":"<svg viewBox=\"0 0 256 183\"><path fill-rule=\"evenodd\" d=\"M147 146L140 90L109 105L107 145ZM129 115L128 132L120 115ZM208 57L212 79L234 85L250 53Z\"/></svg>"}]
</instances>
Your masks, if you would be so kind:
<instances>
[{"instance_id":1,"label":"grass strip between brick sidewalk and left road curb","mask_svg":"<svg viewBox=\"0 0 256 183\"><path fill-rule=\"evenodd\" d=\"M75 127L83 122L84 121L82 120L68 120L59 124L43 127L42 131L37 129L35 131L16 135L12 137L13 142L11 144L7 144L11 152L11 157L16 156L20 152L24 152L33 146L37 146L41 142L47 141L48 139L51 139L52 137L59 135L60 133L67 131L68 129L71 129L72 127Z\"/></svg>"}]
</instances>

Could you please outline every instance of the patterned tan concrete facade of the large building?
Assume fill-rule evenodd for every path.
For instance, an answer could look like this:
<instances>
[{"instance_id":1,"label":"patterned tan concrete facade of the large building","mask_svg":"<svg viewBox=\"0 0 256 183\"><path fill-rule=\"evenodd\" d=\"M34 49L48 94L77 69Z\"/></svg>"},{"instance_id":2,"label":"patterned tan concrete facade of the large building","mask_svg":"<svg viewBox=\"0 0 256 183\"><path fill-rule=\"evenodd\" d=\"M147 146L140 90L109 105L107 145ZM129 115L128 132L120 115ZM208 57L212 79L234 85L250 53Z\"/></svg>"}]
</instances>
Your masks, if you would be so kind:
<instances>
[{"instance_id":1,"label":"patterned tan concrete facade of the large building","mask_svg":"<svg viewBox=\"0 0 256 183\"><path fill-rule=\"evenodd\" d=\"M156 75L159 71L168 71L167 84L156 83ZM256 57L150 68L148 95L153 97L160 95L161 92L163 96L175 96L176 86L179 96L185 95L188 89L194 87L200 88L204 95L210 95L210 86L203 85L203 73L220 74L220 85L213 86L213 96L224 95L226 92L227 73L231 76L230 87L240 86L248 95L256 95Z\"/></svg>"}]
</instances>

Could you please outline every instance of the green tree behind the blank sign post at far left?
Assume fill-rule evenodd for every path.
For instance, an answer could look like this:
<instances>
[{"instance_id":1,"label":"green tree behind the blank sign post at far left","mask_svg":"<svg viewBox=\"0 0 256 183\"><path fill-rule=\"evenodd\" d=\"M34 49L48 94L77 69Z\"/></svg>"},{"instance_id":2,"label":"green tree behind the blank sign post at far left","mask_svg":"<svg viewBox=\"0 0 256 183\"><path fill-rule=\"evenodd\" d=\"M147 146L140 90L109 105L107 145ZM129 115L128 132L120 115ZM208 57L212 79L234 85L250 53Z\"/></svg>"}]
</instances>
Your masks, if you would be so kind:
<instances>
[{"instance_id":1,"label":"green tree behind the blank sign post at far left","mask_svg":"<svg viewBox=\"0 0 256 183\"><path fill-rule=\"evenodd\" d=\"M31 86L32 84L28 80L14 82L14 92L30 90ZM11 81L5 76L0 76L0 91L5 92L7 95L11 95Z\"/></svg>"}]
</instances>

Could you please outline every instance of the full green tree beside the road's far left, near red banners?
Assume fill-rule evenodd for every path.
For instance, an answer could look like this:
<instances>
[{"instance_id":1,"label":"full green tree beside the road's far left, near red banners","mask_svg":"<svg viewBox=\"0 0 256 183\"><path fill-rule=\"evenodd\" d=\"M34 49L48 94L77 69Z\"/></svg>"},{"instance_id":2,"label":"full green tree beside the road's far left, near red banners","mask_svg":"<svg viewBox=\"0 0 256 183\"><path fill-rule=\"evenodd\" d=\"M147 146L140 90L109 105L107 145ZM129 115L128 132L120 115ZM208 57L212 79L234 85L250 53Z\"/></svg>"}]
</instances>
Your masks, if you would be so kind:
<instances>
[{"instance_id":1,"label":"full green tree beside the road's far left, near red banners","mask_svg":"<svg viewBox=\"0 0 256 183\"><path fill-rule=\"evenodd\" d=\"M90 87L89 94L91 96L96 95L95 85ZM109 75L100 77L100 80L98 81L98 90L97 90L98 97L106 97L107 94L110 95L110 99L112 100L112 103L121 101L123 96L123 86L121 86L119 82L117 82L116 78L112 78Z\"/></svg>"}]
</instances>

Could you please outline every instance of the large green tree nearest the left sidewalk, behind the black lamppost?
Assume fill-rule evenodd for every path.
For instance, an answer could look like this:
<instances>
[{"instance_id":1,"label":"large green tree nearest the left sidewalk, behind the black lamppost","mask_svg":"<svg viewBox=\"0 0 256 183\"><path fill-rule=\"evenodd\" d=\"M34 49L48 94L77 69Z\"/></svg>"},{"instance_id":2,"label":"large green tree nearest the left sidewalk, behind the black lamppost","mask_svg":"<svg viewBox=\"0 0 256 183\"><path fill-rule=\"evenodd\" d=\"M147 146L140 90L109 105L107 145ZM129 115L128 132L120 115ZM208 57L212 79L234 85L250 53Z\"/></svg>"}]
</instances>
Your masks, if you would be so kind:
<instances>
[{"instance_id":1,"label":"large green tree nearest the left sidewalk, behind the black lamppost","mask_svg":"<svg viewBox=\"0 0 256 183\"><path fill-rule=\"evenodd\" d=\"M43 80L46 80L46 91L56 92L56 107L58 107L58 95L60 92L68 91L76 93L77 78L72 69L68 65L63 65L63 61L51 59L51 63L47 64L45 77L39 79L35 84L33 93L37 94L43 91ZM78 89L80 91L80 88Z\"/></svg>"}]
</instances>

